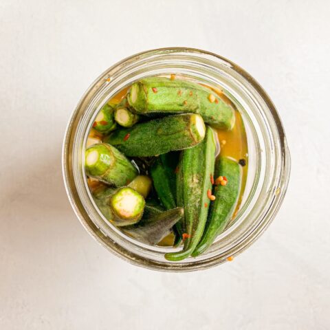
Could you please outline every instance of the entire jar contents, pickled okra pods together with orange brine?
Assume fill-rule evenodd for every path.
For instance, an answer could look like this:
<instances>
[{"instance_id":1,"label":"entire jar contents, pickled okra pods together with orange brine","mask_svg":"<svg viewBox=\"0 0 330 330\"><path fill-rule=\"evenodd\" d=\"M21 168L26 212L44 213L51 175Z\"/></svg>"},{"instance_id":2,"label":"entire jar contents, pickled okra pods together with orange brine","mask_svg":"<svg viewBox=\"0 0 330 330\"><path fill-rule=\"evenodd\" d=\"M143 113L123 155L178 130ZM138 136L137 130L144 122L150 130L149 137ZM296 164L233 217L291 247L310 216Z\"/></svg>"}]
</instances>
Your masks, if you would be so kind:
<instances>
[{"instance_id":1,"label":"entire jar contents, pickled okra pods together with orange brine","mask_svg":"<svg viewBox=\"0 0 330 330\"><path fill-rule=\"evenodd\" d=\"M239 210L248 147L224 93L173 74L138 80L102 107L87 139L98 210L131 239L177 248L170 262L207 253Z\"/></svg>"}]
</instances>

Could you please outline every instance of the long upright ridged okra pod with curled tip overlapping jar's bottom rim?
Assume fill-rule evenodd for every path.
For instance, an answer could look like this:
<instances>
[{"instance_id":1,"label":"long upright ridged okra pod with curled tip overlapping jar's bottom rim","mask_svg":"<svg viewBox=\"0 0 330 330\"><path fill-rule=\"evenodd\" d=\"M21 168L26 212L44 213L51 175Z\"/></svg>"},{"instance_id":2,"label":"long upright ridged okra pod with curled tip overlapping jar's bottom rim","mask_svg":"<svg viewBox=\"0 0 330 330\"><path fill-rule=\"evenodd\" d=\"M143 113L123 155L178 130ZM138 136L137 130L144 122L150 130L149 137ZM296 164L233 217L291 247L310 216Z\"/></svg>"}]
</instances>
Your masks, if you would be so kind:
<instances>
[{"instance_id":1,"label":"long upright ridged okra pod with curled tip overlapping jar's bottom rim","mask_svg":"<svg viewBox=\"0 0 330 330\"><path fill-rule=\"evenodd\" d=\"M208 217L210 177L214 173L215 142L212 129L207 127L201 144L183 152L182 175L184 183L184 228L186 239L180 252L165 254L169 261L186 259L195 250L201 239Z\"/></svg>"}]
</instances>

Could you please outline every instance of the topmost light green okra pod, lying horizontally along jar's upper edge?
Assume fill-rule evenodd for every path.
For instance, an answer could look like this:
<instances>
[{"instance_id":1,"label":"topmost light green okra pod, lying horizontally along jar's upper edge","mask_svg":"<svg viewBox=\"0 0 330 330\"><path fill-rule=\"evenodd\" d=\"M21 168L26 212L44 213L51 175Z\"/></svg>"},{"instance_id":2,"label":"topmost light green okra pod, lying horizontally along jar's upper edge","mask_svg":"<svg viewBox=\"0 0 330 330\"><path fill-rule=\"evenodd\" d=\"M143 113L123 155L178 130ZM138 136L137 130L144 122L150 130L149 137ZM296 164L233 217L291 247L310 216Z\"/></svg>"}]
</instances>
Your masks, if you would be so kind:
<instances>
[{"instance_id":1,"label":"topmost light green okra pod, lying horizontally along jar's upper edge","mask_svg":"<svg viewBox=\"0 0 330 330\"><path fill-rule=\"evenodd\" d=\"M127 97L136 113L198 113L206 124L232 129L234 111L210 89L188 80L149 77L134 83Z\"/></svg>"}]
</instances>

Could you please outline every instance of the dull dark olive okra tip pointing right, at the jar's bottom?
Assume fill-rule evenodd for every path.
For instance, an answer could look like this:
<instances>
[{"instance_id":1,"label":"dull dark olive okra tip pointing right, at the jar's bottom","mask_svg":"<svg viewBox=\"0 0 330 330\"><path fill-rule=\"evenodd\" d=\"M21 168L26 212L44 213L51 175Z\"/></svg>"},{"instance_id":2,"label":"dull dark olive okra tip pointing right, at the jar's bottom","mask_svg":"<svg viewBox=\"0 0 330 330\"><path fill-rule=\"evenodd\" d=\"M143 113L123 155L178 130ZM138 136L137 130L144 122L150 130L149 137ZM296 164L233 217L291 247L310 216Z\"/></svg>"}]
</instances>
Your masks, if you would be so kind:
<instances>
[{"instance_id":1,"label":"dull dark olive okra tip pointing right, at the jar's bottom","mask_svg":"<svg viewBox=\"0 0 330 330\"><path fill-rule=\"evenodd\" d=\"M123 228L122 231L142 243L155 245L170 234L170 229L181 219L183 214L183 208L174 208L155 215L147 223Z\"/></svg>"}]
</instances>

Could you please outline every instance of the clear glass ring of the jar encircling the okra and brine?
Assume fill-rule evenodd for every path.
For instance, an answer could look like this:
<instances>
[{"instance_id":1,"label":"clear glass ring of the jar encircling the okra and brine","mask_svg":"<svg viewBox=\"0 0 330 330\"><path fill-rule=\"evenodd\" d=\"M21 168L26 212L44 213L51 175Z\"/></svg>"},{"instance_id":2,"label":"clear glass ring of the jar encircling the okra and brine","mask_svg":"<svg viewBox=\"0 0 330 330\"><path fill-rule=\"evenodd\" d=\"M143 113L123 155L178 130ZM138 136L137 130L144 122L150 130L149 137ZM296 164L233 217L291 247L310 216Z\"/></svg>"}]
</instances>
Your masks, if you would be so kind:
<instances>
[{"instance_id":1,"label":"clear glass ring of the jar encircling the okra and brine","mask_svg":"<svg viewBox=\"0 0 330 330\"><path fill-rule=\"evenodd\" d=\"M173 73L208 85L220 85L243 117L249 149L249 193L235 222L219 235L208 252L180 262L164 259L168 248L144 245L130 239L104 219L87 187L83 157L91 123L109 98L135 80ZM250 162L254 164L252 171ZM107 69L81 98L69 120L63 142L65 188L87 232L122 259L154 270L201 270L243 252L265 231L278 212L287 189L289 170L290 157L283 125L262 87L231 61L192 48L150 50L130 56Z\"/></svg>"}]
</instances>

